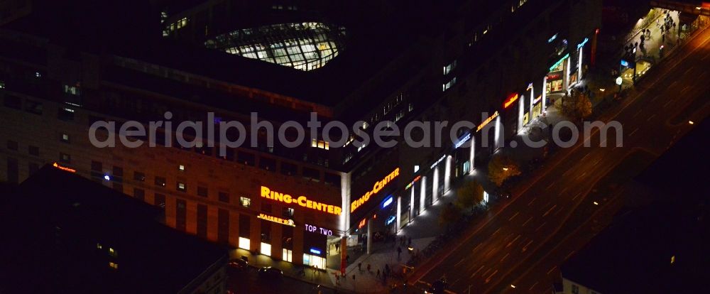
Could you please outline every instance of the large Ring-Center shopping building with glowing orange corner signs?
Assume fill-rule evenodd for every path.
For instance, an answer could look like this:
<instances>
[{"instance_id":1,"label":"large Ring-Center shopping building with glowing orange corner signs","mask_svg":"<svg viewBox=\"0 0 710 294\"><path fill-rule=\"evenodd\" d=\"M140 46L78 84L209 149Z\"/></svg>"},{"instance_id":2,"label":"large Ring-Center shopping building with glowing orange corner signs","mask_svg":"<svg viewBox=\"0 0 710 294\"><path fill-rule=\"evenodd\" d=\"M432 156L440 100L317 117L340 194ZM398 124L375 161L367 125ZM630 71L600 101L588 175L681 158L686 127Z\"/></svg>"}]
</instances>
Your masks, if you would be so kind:
<instances>
[{"instance_id":1,"label":"large Ring-Center shopping building with glowing orange corner signs","mask_svg":"<svg viewBox=\"0 0 710 294\"><path fill-rule=\"evenodd\" d=\"M326 262L344 261L334 244L366 246L366 232L398 232L437 205L476 155L581 80L601 13L599 0L76 2L37 1L0 27L0 180L55 164L163 207L180 231L319 268L341 268ZM174 134L182 121L207 122L204 134L224 121L306 126L311 112L361 122L331 141L306 129L296 148L269 143L268 127L231 129L246 143L225 153L219 136L185 148ZM157 146L89 142L95 122L131 120L165 122L154 138L122 137ZM382 121L449 124L441 143L356 143Z\"/></svg>"}]
</instances>

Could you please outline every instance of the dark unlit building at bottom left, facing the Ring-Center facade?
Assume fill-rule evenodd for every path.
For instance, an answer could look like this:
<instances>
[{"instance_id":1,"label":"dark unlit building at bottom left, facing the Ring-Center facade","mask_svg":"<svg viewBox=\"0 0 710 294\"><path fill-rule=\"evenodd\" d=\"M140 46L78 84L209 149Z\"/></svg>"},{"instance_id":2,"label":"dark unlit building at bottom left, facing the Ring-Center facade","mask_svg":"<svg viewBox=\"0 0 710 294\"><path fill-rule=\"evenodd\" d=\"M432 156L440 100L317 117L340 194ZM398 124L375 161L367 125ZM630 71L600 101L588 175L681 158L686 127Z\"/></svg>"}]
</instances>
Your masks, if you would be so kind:
<instances>
[{"instance_id":1,"label":"dark unlit building at bottom left, facing the Ring-Center facade","mask_svg":"<svg viewBox=\"0 0 710 294\"><path fill-rule=\"evenodd\" d=\"M50 165L2 197L0 293L178 293L226 263L157 207Z\"/></svg>"}]
</instances>

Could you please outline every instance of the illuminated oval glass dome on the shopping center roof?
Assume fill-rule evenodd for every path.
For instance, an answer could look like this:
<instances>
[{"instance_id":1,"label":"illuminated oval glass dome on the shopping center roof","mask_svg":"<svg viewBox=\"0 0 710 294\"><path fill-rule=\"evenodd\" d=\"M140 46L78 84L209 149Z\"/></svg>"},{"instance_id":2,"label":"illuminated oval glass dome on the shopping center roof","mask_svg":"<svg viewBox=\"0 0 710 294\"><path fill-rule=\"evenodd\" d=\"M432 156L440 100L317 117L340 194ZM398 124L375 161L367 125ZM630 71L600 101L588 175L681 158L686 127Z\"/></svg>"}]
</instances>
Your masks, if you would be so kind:
<instances>
[{"instance_id":1,"label":"illuminated oval glass dome on the shopping center roof","mask_svg":"<svg viewBox=\"0 0 710 294\"><path fill-rule=\"evenodd\" d=\"M344 50L345 28L324 23L280 23L224 33L204 45L297 70L315 70Z\"/></svg>"}]
</instances>

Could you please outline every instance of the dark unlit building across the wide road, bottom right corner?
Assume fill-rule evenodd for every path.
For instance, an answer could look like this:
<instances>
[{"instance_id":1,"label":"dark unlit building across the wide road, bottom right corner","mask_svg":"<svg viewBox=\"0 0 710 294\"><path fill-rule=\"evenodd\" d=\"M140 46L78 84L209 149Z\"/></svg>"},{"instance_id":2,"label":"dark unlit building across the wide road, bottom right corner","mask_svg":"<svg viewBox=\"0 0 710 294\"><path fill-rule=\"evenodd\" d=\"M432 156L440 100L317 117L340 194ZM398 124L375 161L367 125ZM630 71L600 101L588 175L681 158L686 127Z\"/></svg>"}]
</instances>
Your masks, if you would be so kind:
<instances>
[{"instance_id":1,"label":"dark unlit building across the wide road, bottom right corner","mask_svg":"<svg viewBox=\"0 0 710 294\"><path fill-rule=\"evenodd\" d=\"M704 121L636 178L656 202L619 214L562 265L562 276L601 293L701 293L710 278Z\"/></svg>"}]
</instances>

